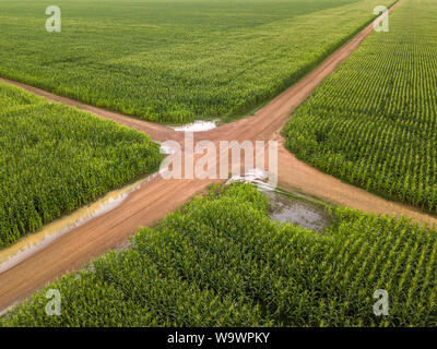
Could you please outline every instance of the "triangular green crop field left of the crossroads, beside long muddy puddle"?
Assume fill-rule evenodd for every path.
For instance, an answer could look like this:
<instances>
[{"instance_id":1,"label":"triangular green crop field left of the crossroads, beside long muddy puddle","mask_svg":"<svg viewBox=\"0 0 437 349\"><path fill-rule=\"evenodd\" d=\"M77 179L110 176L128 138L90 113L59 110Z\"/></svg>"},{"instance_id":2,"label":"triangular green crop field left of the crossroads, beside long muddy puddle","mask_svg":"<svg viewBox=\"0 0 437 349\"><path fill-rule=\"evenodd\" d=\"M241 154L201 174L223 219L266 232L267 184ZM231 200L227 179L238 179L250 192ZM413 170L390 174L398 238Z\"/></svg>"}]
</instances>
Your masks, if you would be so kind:
<instances>
[{"instance_id":1,"label":"triangular green crop field left of the crossroads, beside long muddy puddle","mask_svg":"<svg viewBox=\"0 0 437 349\"><path fill-rule=\"evenodd\" d=\"M155 170L149 136L0 83L0 249Z\"/></svg>"}]
</instances>

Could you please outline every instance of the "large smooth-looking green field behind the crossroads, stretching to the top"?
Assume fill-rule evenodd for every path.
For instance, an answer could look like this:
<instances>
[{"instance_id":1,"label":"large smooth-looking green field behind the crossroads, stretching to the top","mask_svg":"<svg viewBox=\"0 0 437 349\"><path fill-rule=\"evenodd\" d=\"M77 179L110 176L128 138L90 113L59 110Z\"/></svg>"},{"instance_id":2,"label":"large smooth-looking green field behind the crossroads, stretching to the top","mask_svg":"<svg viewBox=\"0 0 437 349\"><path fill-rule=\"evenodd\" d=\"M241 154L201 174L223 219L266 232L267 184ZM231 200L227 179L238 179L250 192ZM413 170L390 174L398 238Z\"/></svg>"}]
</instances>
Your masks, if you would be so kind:
<instances>
[{"instance_id":1,"label":"large smooth-looking green field behind the crossroads, stretching to the top","mask_svg":"<svg viewBox=\"0 0 437 349\"><path fill-rule=\"evenodd\" d=\"M290 86L389 0L0 1L0 74L161 122L240 113Z\"/></svg>"}]
</instances>

